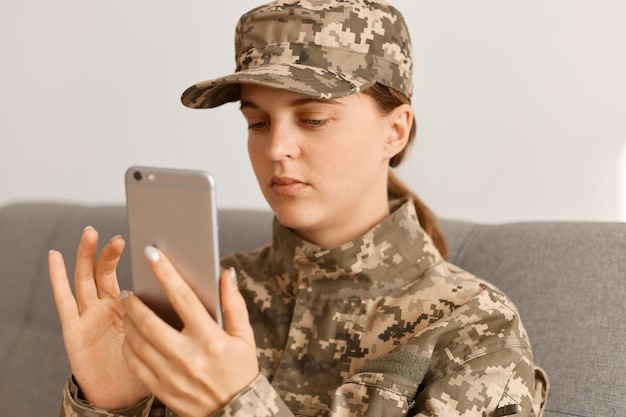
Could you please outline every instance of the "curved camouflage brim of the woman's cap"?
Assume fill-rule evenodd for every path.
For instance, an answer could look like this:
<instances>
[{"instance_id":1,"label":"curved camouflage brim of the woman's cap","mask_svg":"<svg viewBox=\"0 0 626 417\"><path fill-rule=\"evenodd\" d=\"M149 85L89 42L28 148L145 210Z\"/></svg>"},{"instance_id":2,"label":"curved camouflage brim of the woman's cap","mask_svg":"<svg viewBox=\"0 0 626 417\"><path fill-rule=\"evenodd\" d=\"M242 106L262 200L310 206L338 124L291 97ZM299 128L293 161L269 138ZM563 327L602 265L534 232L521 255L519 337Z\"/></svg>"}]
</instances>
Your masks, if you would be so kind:
<instances>
[{"instance_id":1,"label":"curved camouflage brim of the woman's cap","mask_svg":"<svg viewBox=\"0 0 626 417\"><path fill-rule=\"evenodd\" d=\"M190 108L220 106L241 99L241 84L256 84L315 98L339 98L358 93L375 83L336 71L297 64L259 66L213 80L203 81L183 92L181 101Z\"/></svg>"}]
</instances>

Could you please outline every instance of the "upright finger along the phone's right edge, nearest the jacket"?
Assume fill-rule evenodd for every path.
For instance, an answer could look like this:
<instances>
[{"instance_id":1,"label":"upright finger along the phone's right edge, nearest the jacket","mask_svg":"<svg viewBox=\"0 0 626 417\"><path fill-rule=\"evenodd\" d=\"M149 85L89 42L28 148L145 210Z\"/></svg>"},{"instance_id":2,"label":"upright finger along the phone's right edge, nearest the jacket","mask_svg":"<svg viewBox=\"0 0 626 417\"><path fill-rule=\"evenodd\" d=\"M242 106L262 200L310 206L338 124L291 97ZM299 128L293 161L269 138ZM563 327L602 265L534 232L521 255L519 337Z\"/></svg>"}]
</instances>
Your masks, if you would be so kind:
<instances>
[{"instance_id":1,"label":"upright finger along the phone's right edge, nearest the jacket","mask_svg":"<svg viewBox=\"0 0 626 417\"><path fill-rule=\"evenodd\" d=\"M220 296L224 311L224 330L231 336L238 336L254 342L254 332L250 326L248 307L237 287L237 272L229 268L220 277Z\"/></svg>"}]
</instances>

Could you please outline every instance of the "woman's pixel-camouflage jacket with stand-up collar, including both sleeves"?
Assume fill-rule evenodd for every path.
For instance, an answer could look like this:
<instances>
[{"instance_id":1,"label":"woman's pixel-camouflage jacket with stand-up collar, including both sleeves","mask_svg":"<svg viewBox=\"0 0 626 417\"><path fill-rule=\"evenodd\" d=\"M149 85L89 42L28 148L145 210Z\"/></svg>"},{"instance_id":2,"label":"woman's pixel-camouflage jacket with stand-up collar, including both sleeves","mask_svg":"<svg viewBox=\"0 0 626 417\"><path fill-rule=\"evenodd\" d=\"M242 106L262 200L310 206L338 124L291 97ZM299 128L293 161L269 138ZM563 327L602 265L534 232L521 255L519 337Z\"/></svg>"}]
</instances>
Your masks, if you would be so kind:
<instances>
[{"instance_id":1,"label":"woman's pixel-camouflage jacket with stand-up collar, including both sleeves","mask_svg":"<svg viewBox=\"0 0 626 417\"><path fill-rule=\"evenodd\" d=\"M541 414L546 391L515 306L445 262L413 204L392 210L335 249L275 222L270 245L223 259L248 303L260 374L217 416ZM98 412L76 394L70 380L61 416L173 415L152 399Z\"/></svg>"}]
</instances>

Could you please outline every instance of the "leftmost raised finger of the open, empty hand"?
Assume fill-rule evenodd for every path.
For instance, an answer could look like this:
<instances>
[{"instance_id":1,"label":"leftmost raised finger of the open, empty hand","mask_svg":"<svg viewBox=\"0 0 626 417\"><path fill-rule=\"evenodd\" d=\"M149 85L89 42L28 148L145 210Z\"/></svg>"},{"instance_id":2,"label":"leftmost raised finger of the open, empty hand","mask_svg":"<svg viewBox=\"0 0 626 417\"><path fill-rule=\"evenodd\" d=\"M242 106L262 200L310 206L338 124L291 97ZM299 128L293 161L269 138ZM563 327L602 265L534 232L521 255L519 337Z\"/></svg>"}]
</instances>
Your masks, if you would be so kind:
<instances>
[{"instance_id":1,"label":"leftmost raised finger of the open, empty hand","mask_svg":"<svg viewBox=\"0 0 626 417\"><path fill-rule=\"evenodd\" d=\"M67 330L78 318L78 306L72 294L63 256L57 251L48 253L48 271L54 302L61 319L61 327Z\"/></svg>"}]
</instances>

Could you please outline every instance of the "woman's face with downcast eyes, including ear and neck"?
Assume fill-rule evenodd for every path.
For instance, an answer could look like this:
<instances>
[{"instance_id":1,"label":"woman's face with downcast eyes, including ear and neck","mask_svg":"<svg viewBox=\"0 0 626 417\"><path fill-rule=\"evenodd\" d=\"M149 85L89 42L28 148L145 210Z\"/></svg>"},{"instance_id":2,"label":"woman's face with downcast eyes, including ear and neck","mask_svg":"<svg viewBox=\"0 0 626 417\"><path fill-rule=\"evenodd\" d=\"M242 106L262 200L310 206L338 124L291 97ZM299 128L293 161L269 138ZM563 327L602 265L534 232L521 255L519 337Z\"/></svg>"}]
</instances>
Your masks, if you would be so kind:
<instances>
[{"instance_id":1,"label":"woman's face with downcast eyes, including ear and neck","mask_svg":"<svg viewBox=\"0 0 626 417\"><path fill-rule=\"evenodd\" d=\"M362 93L317 100L242 85L250 160L278 220L331 248L386 217L389 159L406 144L397 120L412 120L406 107L383 115Z\"/></svg>"}]
</instances>

